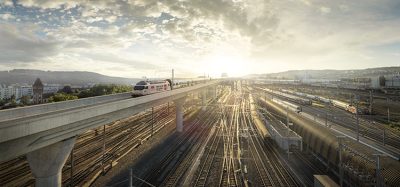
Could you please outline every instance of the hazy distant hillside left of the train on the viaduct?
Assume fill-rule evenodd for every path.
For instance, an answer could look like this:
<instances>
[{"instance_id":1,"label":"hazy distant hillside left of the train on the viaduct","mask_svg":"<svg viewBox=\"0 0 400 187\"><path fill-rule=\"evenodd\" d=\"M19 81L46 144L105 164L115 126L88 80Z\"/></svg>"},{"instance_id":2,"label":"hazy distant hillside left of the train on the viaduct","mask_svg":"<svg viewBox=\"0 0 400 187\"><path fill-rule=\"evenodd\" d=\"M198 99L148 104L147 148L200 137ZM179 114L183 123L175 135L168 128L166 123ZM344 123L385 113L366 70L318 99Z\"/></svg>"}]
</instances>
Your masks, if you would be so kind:
<instances>
[{"instance_id":1,"label":"hazy distant hillside left of the train on the viaduct","mask_svg":"<svg viewBox=\"0 0 400 187\"><path fill-rule=\"evenodd\" d=\"M40 78L43 83L71 85L84 85L87 83L134 84L139 80L121 77L109 77L98 73L85 71L41 71L29 69L0 71L0 84L32 84L36 78Z\"/></svg>"}]
</instances>

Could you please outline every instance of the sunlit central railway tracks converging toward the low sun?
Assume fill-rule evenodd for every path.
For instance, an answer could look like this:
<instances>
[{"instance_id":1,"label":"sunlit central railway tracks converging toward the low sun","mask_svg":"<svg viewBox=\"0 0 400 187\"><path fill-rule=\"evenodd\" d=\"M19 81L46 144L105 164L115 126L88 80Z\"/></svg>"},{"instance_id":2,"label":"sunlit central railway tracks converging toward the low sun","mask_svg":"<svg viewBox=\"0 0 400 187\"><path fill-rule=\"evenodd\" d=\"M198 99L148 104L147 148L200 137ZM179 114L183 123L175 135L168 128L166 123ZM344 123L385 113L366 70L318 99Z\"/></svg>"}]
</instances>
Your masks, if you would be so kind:
<instances>
[{"instance_id":1,"label":"sunlit central railway tracks converging toward the low sun","mask_svg":"<svg viewBox=\"0 0 400 187\"><path fill-rule=\"evenodd\" d=\"M254 126L248 95L231 94L225 101L220 128L208 144L192 186L300 186ZM249 181L249 175L256 181Z\"/></svg>"}]
</instances>

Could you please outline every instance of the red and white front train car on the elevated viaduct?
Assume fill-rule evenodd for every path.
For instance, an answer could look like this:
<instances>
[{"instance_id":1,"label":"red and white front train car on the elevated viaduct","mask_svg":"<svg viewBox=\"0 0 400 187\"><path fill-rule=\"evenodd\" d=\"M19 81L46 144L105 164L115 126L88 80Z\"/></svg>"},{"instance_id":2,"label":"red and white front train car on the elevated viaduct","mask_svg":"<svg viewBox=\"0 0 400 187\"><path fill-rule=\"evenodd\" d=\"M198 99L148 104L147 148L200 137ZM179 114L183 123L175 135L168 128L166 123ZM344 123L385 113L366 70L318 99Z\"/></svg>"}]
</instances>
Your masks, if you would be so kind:
<instances>
[{"instance_id":1,"label":"red and white front train car on the elevated viaduct","mask_svg":"<svg viewBox=\"0 0 400 187\"><path fill-rule=\"evenodd\" d=\"M171 90L171 81L140 81L133 87L132 96L143 96Z\"/></svg>"}]
</instances>

